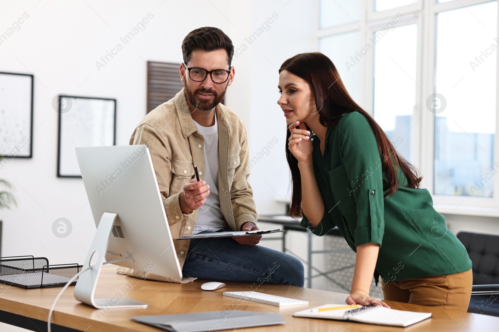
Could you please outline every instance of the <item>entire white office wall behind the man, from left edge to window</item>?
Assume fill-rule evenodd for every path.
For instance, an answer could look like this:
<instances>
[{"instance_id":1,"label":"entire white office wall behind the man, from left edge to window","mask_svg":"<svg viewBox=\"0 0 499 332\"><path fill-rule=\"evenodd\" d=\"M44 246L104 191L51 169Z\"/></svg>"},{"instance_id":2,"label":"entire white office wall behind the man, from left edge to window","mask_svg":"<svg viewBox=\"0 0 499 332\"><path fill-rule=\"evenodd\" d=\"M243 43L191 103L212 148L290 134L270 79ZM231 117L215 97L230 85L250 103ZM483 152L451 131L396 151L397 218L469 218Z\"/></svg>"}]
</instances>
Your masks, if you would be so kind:
<instances>
[{"instance_id":1,"label":"entire white office wall behind the man, from left edge to window","mask_svg":"<svg viewBox=\"0 0 499 332\"><path fill-rule=\"evenodd\" d=\"M251 183L260 213L281 212L274 198L284 196L287 171L283 164L284 118L277 100L277 70L283 60L315 48L314 9L308 1L9 1L0 4L0 33L25 12L29 17L0 45L0 71L33 73L33 157L13 159L0 178L14 184L18 207L1 210L2 255L46 256L52 264L82 263L95 232L81 179L56 177L57 112L54 96L117 99L118 145L128 139L145 115L146 63L181 62L185 35L201 26L216 26L236 48L249 48L234 59L236 79L228 89L227 105L247 126L252 155L271 140L277 146L253 168ZM88 4L87 4L88 3ZM285 5L285 6L284 6ZM272 13L278 18L249 45L245 40ZM111 61L98 70L106 55L146 17L154 17ZM192 17L199 17L193 19ZM123 44L123 43L122 43ZM276 130L279 128L279 130ZM266 181L278 195L265 184ZM52 234L52 223L68 219L67 238ZM277 246L277 244L276 244Z\"/></svg>"}]
</instances>

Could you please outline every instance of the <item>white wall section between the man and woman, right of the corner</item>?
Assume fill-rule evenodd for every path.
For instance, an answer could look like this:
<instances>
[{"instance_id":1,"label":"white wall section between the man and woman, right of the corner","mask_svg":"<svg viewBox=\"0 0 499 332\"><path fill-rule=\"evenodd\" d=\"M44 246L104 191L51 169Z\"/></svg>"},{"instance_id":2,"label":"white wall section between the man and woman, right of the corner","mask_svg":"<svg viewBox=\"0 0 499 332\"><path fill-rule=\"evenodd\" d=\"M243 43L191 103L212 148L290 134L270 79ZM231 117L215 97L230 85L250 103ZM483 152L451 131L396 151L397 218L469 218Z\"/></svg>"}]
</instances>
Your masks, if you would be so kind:
<instances>
[{"instance_id":1,"label":"white wall section between the man and woman, right of the corner","mask_svg":"<svg viewBox=\"0 0 499 332\"><path fill-rule=\"evenodd\" d=\"M284 154L286 122L277 105L278 68L297 53L317 50L316 14L311 1L289 1L285 7L277 1L253 3L252 31L257 31L272 13L278 18L251 44L250 148L252 156L260 157L251 168L251 185L260 214L281 213L284 206L276 200L286 198L289 168Z\"/></svg>"}]
</instances>

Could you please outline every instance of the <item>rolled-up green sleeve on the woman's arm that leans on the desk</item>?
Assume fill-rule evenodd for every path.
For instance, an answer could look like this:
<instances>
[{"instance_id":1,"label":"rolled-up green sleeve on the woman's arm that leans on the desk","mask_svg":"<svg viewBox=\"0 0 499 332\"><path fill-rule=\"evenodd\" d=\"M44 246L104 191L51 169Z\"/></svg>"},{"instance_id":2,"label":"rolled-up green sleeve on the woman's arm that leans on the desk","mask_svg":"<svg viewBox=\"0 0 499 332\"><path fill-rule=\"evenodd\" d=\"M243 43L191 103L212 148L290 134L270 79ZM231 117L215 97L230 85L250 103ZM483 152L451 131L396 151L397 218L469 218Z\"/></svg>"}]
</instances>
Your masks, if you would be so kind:
<instances>
[{"instance_id":1,"label":"rolled-up green sleeve on the woman's arm that leans on the desk","mask_svg":"<svg viewBox=\"0 0 499 332\"><path fill-rule=\"evenodd\" d=\"M348 182L356 203L357 222L353 229L355 245L378 243L384 233L384 198L382 158L374 132L359 112L346 114L338 123L341 131L341 154Z\"/></svg>"}]
</instances>

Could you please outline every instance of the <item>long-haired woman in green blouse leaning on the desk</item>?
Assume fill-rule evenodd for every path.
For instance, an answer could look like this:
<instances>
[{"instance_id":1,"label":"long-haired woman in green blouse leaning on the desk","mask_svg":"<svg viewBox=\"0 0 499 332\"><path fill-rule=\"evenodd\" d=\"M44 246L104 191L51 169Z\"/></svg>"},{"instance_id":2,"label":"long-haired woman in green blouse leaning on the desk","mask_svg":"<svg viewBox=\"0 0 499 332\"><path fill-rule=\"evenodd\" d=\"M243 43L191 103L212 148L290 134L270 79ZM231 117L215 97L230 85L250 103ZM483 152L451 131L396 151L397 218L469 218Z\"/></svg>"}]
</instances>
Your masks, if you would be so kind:
<instances>
[{"instance_id":1,"label":"long-haired woman in green blouse leaning on the desk","mask_svg":"<svg viewBox=\"0 0 499 332\"><path fill-rule=\"evenodd\" d=\"M289 128L290 215L302 215L301 226L317 235L338 226L356 251L346 303L380 303L369 296L374 274L385 300L466 312L472 263L465 247L331 60L315 52L284 61L278 89Z\"/></svg>"}]
</instances>

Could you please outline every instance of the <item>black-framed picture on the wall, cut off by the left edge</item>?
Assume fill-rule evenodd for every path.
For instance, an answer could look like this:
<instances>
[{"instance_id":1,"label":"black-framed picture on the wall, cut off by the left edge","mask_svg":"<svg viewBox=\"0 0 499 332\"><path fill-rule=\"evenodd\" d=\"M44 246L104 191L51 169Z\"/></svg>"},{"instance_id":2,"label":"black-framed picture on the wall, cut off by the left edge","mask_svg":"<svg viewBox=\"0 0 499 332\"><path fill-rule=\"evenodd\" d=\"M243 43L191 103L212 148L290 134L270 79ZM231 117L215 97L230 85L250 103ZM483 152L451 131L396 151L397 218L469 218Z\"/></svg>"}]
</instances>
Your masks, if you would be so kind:
<instances>
[{"instance_id":1,"label":"black-framed picture on the wall, cut off by the left edge","mask_svg":"<svg viewBox=\"0 0 499 332\"><path fill-rule=\"evenodd\" d=\"M0 156L31 158L33 75L0 73Z\"/></svg>"}]
</instances>

